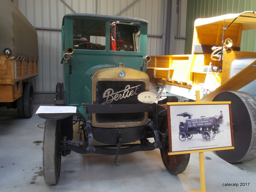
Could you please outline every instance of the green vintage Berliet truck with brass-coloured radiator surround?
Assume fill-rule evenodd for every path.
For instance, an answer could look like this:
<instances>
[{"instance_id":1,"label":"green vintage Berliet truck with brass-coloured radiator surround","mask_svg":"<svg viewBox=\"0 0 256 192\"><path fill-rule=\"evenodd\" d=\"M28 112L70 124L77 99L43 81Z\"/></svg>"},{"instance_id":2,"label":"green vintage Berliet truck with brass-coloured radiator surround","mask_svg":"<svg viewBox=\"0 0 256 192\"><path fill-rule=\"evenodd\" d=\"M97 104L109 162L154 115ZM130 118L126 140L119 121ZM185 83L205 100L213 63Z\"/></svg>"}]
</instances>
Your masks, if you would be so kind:
<instances>
[{"instance_id":1,"label":"green vintage Berliet truck with brass-coloured radiator surround","mask_svg":"<svg viewBox=\"0 0 256 192\"><path fill-rule=\"evenodd\" d=\"M146 20L127 17L64 16L65 82L56 86L56 105L77 110L74 114L39 114L46 119L46 184L58 183L61 156L71 151L115 155L117 165L118 155L159 148L170 173L186 169L189 154L168 155L166 105L156 104L161 92L146 74L150 61L147 25ZM73 128L78 142L73 139Z\"/></svg>"}]
</instances>

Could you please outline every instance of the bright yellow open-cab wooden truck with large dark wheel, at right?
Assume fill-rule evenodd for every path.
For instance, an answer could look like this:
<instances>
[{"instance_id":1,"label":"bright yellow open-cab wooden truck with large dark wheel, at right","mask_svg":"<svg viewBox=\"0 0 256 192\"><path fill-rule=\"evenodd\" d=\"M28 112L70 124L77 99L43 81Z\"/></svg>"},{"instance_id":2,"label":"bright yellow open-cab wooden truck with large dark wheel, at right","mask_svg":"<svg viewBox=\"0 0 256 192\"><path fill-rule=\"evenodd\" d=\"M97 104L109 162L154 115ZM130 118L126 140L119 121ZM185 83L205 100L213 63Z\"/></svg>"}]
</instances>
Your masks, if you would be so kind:
<instances>
[{"instance_id":1,"label":"bright yellow open-cab wooden truck with large dark wheel, at right","mask_svg":"<svg viewBox=\"0 0 256 192\"><path fill-rule=\"evenodd\" d=\"M256 100L246 90L237 92L256 79L256 52L240 49L242 33L256 29L255 14L245 11L196 19L191 54L150 56L147 65L159 100L169 96L196 100L195 92L200 90L201 101L232 102L235 149L217 152L228 162L256 156Z\"/></svg>"}]
</instances>

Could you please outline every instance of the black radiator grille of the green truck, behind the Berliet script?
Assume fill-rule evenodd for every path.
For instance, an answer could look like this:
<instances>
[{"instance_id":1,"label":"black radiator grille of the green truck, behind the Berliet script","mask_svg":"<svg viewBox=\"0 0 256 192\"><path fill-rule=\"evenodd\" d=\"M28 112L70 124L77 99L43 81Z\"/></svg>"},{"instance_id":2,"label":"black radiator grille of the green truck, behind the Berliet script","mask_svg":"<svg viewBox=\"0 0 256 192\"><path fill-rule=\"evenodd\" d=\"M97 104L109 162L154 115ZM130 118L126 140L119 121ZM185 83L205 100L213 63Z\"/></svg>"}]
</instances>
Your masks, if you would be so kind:
<instances>
[{"instance_id":1,"label":"black radiator grille of the green truck, behind the Berliet script","mask_svg":"<svg viewBox=\"0 0 256 192\"><path fill-rule=\"evenodd\" d=\"M98 81L96 84L96 104L139 104L137 96L146 91L143 81ZM98 123L140 122L145 113L96 114Z\"/></svg>"}]
</instances>

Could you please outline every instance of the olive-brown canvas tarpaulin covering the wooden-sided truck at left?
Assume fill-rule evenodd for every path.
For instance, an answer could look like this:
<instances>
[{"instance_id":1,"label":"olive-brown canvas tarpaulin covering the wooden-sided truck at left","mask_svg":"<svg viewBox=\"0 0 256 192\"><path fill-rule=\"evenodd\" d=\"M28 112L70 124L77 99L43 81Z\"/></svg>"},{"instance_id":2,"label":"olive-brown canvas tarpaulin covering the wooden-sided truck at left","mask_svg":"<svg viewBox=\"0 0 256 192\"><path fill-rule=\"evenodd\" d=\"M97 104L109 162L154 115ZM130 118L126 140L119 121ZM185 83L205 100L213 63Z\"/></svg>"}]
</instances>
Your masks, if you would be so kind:
<instances>
[{"instance_id":1,"label":"olive-brown canvas tarpaulin covering the wooden-sided truck at left","mask_svg":"<svg viewBox=\"0 0 256 192\"><path fill-rule=\"evenodd\" d=\"M12 50L16 57L38 59L36 29L10 1L0 1L0 52Z\"/></svg>"}]
</instances>

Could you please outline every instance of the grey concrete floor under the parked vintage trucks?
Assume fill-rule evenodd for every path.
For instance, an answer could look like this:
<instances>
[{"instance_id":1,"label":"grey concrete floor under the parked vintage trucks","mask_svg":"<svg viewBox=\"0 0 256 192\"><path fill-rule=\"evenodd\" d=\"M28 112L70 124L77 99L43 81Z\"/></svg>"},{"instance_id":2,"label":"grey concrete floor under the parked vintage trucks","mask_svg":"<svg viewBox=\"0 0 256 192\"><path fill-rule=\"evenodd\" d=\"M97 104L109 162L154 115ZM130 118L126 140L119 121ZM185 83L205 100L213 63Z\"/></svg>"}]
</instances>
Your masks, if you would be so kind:
<instances>
[{"instance_id":1,"label":"grey concrete floor under the parked vintage trucks","mask_svg":"<svg viewBox=\"0 0 256 192\"><path fill-rule=\"evenodd\" d=\"M39 105L35 106L35 110ZM0 107L0 192L76 191L136 192L200 190L198 153L192 153L188 167L179 175L169 174L158 149L118 156L76 154L62 157L60 181L44 183L41 149L44 119L33 115L18 118L17 111ZM206 191L250 192L256 188L256 159L229 164L214 152L204 152ZM246 183L247 186L223 186ZM249 186L248 186L249 183Z\"/></svg>"}]
</instances>

